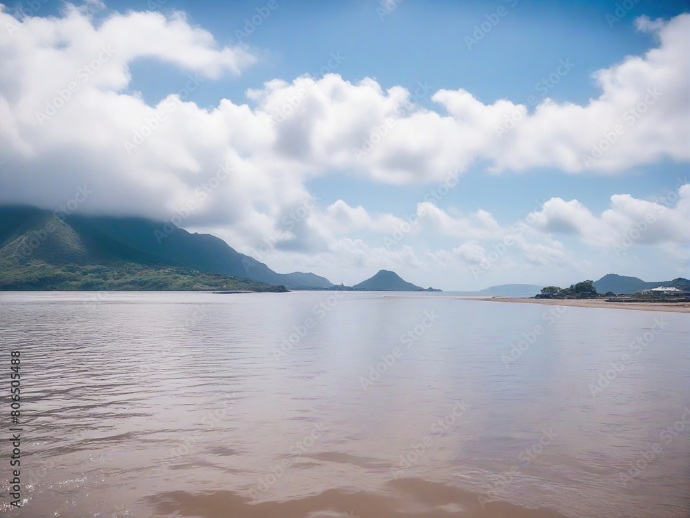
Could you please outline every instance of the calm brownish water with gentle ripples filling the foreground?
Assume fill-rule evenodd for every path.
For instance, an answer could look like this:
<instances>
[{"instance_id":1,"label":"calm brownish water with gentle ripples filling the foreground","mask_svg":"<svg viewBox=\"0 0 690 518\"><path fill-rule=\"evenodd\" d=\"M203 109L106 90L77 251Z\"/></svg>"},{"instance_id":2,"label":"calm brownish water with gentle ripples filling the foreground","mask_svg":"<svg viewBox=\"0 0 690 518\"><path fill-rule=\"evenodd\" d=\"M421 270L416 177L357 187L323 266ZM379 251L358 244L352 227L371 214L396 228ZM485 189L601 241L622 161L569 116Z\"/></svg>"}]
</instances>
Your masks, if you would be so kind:
<instances>
[{"instance_id":1,"label":"calm brownish water with gentle ripples filling the foreground","mask_svg":"<svg viewBox=\"0 0 690 518\"><path fill-rule=\"evenodd\" d=\"M25 485L0 512L689 513L689 314L333 292L0 303Z\"/></svg>"}]
</instances>

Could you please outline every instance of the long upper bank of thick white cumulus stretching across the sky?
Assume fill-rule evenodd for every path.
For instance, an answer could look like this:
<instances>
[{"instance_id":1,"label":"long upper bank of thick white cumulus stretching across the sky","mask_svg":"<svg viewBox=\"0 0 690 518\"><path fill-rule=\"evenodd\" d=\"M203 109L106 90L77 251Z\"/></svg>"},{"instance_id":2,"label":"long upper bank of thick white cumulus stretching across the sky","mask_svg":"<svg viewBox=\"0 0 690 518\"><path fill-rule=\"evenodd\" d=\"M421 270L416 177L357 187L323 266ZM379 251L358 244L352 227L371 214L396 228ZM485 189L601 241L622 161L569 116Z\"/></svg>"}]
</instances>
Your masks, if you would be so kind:
<instances>
[{"instance_id":1,"label":"long upper bank of thick white cumulus stretching across the sky","mask_svg":"<svg viewBox=\"0 0 690 518\"><path fill-rule=\"evenodd\" d=\"M149 203L148 210L160 214L226 162L242 171L233 179L235 188L248 197L270 198L277 179L279 192L304 195L304 178L332 171L400 184L440 180L477 160L495 170L551 166L569 172L690 160L690 64L684 59L690 15L667 23L639 21L640 28L655 32L659 46L598 71L602 93L589 104L546 99L529 114L506 99L482 104L466 90L429 92L440 107L430 111L416 106L400 86L383 90L373 79L351 83L335 74L268 81L248 91L253 108L223 99L208 111L186 102L188 90L221 73L239 73L255 57L240 48L218 48L209 32L190 26L182 13L115 14L96 26L68 6L59 18L19 20L1 12L0 25L12 27L0 31L0 152L10 164L6 171L14 172L3 180L14 187L15 200L18 195L57 203L63 197L58 184L71 176L70 184L88 179L102 191L127 189L142 198L155 190L159 202ZM129 66L141 57L192 74L150 106L126 93ZM70 93L70 84L78 91ZM58 99L61 93L70 99ZM38 115L57 105L49 119ZM497 135L516 111L525 115ZM607 135L615 135L615 142L603 142ZM83 164L83 174L64 171L77 169L75 162ZM63 170L49 163L64 164ZM52 173L43 180L55 189L27 189L27 180L46 169ZM115 209L115 200L130 197L108 198L101 209Z\"/></svg>"}]
</instances>

